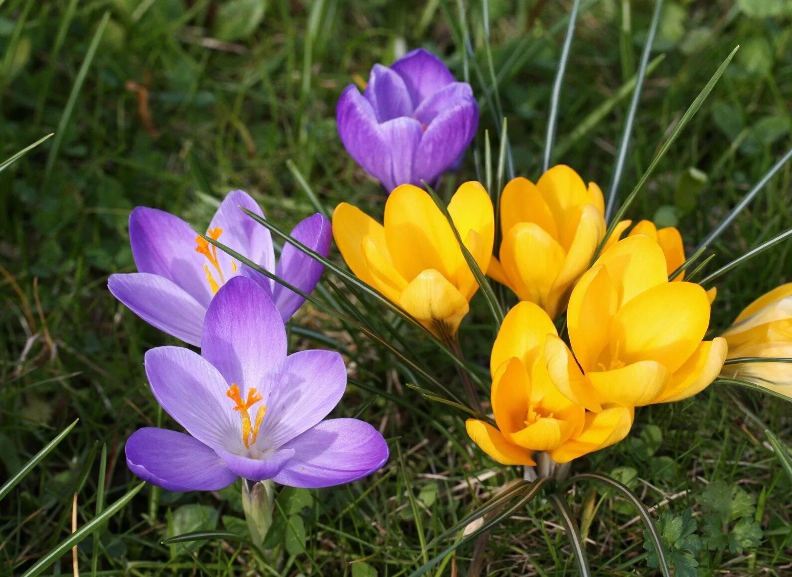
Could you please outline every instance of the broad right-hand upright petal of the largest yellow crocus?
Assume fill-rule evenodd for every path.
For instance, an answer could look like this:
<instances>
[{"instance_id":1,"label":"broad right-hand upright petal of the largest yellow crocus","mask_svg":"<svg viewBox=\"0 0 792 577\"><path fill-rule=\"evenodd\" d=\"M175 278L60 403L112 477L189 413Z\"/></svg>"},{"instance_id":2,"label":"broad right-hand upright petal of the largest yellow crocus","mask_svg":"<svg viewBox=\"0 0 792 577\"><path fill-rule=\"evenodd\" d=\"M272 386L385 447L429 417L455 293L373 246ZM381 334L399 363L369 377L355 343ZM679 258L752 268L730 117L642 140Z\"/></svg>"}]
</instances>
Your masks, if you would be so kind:
<instances>
[{"instance_id":1,"label":"broad right-hand upright petal of the largest yellow crocus","mask_svg":"<svg viewBox=\"0 0 792 577\"><path fill-rule=\"evenodd\" d=\"M706 291L694 283L664 283L638 294L613 317L611 359L653 360L673 372L699 347L710 325Z\"/></svg>"}]
</instances>

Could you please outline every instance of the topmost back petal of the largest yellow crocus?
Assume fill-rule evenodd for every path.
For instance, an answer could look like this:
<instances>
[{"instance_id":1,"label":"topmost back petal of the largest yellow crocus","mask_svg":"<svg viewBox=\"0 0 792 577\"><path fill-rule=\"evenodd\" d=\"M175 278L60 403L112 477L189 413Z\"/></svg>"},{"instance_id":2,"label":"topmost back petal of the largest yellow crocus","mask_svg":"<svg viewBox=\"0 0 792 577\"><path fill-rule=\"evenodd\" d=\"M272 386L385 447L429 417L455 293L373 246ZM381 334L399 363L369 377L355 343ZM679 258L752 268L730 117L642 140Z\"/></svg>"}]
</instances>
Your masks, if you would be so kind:
<instances>
[{"instance_id":1,"label":"topmost back petal of the largest yellow crocus","mask_svg":"<svg viewBox=\"0 0 792 577\"><path fill-rule=\"evenodd\" d=\"M644 234L617 242L600 255L596 264L607 268L619 292L619 306L630 302L635 295L668 281L663 250Z\"/></svg>"}]
</instances>

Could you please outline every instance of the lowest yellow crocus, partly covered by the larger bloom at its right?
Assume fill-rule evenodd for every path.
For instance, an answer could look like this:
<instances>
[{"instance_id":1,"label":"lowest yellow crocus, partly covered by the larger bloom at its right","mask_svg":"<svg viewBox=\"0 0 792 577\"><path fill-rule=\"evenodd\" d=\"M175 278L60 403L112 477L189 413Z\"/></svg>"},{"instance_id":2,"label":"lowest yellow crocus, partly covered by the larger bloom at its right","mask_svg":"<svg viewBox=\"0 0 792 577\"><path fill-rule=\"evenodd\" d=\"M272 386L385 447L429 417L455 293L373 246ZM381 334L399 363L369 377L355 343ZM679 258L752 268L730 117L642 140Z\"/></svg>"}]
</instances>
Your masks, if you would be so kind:
<instances>
[{"instance_id":1,"label":"lowest yellow crocus, partly covered by the larger bloom at its right","mask_svg":"<svg viewBox=\"0 0 792 577\"><path fill-rule=\"evenodd\" d=\"M504 465L535 465L534 451L546 451L558 463L622 440L634 409L588 412L558 391L548 374L543 351L558 339L553 321L532 302L520 302L506 315L493 345L492 408L497 428L468 419L470 438Z\"/></svg>"}]
</instances>

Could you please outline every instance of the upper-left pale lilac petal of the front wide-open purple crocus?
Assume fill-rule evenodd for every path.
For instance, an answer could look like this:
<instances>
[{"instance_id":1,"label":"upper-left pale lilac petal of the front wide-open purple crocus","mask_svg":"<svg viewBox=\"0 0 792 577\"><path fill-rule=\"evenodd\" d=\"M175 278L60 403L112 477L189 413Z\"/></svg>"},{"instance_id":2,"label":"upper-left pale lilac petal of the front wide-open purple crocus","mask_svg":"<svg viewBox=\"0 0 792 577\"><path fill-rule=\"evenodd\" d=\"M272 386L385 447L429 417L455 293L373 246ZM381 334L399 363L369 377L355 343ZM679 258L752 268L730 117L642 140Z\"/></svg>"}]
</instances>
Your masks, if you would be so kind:
<instances>
[{"instance_id":1,"label":"upper-left pale lilac petal of the front wide-open purple crocus","mask_svg":"<svg viewBox=\"0 0 792 577\"><path fill-rule=\"evenodd\" d=\"M144 364L154 398L190 435L215 450L242 446L228 383L206 359L185 347L157 347Z\"/></svg>"}]
</instances>

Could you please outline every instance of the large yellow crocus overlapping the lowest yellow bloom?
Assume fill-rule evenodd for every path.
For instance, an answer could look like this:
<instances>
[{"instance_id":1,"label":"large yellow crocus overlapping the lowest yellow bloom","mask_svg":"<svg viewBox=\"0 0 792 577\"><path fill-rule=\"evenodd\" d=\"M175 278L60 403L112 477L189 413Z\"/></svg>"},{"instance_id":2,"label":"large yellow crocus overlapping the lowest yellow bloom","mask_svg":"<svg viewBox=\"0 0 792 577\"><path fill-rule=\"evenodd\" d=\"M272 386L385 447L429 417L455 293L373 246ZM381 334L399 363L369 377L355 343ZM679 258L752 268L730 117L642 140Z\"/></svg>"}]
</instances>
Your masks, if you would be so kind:
<instances>
[{"instance_id":1,"label":"large yellow crocus overlapping the lowest yellow bloom","mask_svg":"<svg viewBox=\"0 0 792 577\"><path fill-rule=\"evenodd\" d=\"M718 376L726 341L703 340L706 291L669 283L667 271L660 245L638 234L604 251L581 277L567 309L574 357L558 338L548 338L544 351L566 397L595 412L638 407L691 397Z\"/></svg>"}]
</instances>

